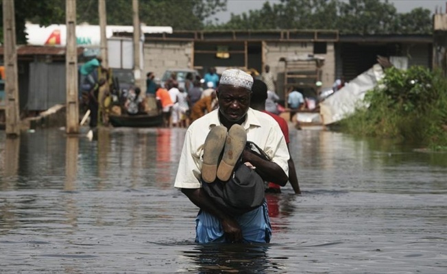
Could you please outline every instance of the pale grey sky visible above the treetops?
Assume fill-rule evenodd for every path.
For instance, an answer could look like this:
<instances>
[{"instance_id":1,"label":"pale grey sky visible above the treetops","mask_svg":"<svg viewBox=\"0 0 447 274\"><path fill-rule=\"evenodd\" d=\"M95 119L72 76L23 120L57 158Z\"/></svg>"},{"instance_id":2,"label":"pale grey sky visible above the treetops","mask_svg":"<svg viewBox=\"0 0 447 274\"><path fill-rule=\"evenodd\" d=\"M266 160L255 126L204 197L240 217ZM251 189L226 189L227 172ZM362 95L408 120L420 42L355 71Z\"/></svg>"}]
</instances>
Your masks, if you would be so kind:
<instances>
[{"instance_id":1,"label":"pale grey sky visible above the treetops","mask_svg":"<svg viewBox=\"0 0 447 274\"><path fill-rule=\"evenodd\" d=\"M227 11L219 12L215 18L219 19L219 23L226 23L230 20L230 14L241 14L249 10L258 10L262 8L264 2L269 1L270 4L279 3L279 0L228 0ZM446 12L447 0L389 0L393 3L398 12L409 12L414 8L427 8L433 13L436 7L441 7L442 12Z\"/></svg>"}]
</instances>

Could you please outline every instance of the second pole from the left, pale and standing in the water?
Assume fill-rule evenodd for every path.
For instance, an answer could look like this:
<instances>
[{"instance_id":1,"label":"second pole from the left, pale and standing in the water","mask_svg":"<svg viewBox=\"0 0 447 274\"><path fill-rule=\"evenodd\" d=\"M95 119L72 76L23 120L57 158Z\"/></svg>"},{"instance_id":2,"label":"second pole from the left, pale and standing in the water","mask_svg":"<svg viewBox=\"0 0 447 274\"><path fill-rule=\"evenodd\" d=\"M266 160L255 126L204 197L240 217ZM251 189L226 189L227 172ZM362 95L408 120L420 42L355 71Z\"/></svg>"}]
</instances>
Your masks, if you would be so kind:
<instances>
[{"instance_id":1,"label":"second pole from the left, pale and standing in the water","mask_svg":"<svg viewBox=\"0 0 447 274\"><path fill-rule=\"evenodd\" d=\"M77 102L77 46L76 0L65 1L67 50L65 51L65 79L67 81L67 134L79 133L79 106Z\"/></svg>"}]
</instances>

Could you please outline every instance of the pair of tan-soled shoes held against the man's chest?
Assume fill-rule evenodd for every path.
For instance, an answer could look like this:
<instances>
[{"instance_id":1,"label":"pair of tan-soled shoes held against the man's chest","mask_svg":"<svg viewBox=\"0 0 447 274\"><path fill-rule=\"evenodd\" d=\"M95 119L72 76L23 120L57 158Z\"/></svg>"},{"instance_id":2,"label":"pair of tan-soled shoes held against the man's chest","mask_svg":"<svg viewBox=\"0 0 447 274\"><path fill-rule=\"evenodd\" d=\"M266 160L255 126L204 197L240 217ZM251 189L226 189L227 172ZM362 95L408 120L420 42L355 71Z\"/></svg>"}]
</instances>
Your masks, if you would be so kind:
<instances>
[{"instance_id":1,"label":"pair of tan-soled shoes held against the man's chest","mask_svg":"<svg viewBox=\"0 0 447 274\"><path fill-rule=\"evenodd\" d=\"M202 179L206 183L230 179L247 142L247 133L241 125L227 128L216 125L206 136L202 164ZM223 153L222 153L223 151Z\"/></svg>"}]
</instances>

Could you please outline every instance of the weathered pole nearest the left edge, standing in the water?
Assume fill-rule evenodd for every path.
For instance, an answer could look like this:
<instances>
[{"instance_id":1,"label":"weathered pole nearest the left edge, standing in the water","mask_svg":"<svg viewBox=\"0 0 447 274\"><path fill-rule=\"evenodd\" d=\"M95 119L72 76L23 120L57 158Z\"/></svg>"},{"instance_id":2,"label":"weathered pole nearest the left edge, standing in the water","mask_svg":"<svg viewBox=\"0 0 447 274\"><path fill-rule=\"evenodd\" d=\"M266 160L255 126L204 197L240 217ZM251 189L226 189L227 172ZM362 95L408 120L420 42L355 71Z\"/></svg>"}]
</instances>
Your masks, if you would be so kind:
<instances>
[{"instance_id":1,"label":"weathered pole nearest the left edge, standing in the water","mask_svg":"<svg viewBox=\"0 0 447 274\"><path fill-rule=\"evenodd\" d=\"M17 48L14 1L3 0L3 58L5 62L5 132L7 136L20 135L19 83L17 81Z\"/></svg>"}]
</instances>

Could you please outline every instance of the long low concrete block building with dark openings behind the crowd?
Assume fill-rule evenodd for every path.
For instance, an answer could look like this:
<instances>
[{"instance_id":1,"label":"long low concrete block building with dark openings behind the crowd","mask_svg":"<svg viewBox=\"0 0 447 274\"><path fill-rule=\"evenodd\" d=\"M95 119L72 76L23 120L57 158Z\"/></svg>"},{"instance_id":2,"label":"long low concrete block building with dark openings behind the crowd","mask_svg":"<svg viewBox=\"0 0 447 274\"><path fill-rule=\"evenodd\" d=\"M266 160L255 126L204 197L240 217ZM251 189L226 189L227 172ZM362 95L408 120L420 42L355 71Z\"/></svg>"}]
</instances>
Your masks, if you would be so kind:
<instances>
[{"instance_id":1,"label":"long low concrete block building with dark openings behind the crowd","mask_svg":"<svg viewBox=\"0 0 447 274\"><path fill-rule=\"evenodd\" d=\"M125 34L126 35L126 34ZM130 35L130 34L127 34ZM332 86L335 79L354 79L376 64L377 55L399 57L407 66L429 68L433 62L433 36L426 35L340 35L336 30L273 31L197 31L171 34L145 34L144 68L158 77L166 69L190 68L205 73L208 67L218 69L241 67L263 71L268 64L276 76L276 92L285 97L291 62L312 59L305 71L298 71L302 81L322 82ZM315 63L315 60L319 60ZM298 65L300 66L300 65ZM313 68L313 69L312 69ZM296 69L296 68L295 68ZM293 74L292 74L293 75ZM291 75L289 75L291 76Z\"/></svg>"}]
</instances>

